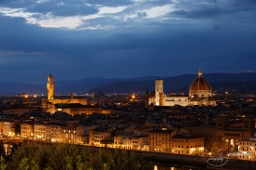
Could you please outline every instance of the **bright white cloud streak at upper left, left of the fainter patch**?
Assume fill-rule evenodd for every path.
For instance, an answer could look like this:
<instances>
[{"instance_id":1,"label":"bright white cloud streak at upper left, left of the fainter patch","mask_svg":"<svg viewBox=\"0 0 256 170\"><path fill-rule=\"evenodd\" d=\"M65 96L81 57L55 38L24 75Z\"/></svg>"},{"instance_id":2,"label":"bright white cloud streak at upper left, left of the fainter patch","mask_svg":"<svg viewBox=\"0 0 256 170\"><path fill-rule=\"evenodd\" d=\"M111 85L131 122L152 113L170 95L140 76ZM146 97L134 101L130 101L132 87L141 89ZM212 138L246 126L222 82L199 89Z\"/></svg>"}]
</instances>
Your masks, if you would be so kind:
<instances>
[{"instance_id":1,"label":"bright white cloud streak at upper left, left of the fainter patch","mask_svg":"<svg viewBox=\"0 0 256 170\"><path fill-rule=\"evenodd\" d=\"M40 1L38 4L43 3L45 7L41 6L33 6L33 7L27 7L27 8L9 8L9 7L3 7L0 8L0 13L4 14L7 17L11 18L23 18L26 20L29 24L36 24L43 28L62 28L62 29L104 29L104 28L113 28L109 27L109 23L107 23L105 26L99 27L99 24L96 25L89 25L90 23L87 22L87 20L96 20L98 18L107 18L110 17L113 14L121 13L123 10L125 10L127 7L97 7L97 10L93 9L94 7L89 7L92 14L89 13L89 15L68 15L70 12L64 12L64 15L54 15L56 14L56 11L60 11L60 9L53 10L54 8L51 7L52 12L48 11L49 5L46 5L48 1ZM64 4L62 4L64 6ZM84 6L86 7L88 6ZM39 10L36 10L39 8ZM60 7L63 8L63 7ZM79 7L80 8L80 7ZM93 9L93 10L92 10ZM33 12L33 11L40 11L40 12ZM63 10L64 11L64 10ZM68 10L66 10L68 11ZM71 10L72 11L72 10ZM76 11L76 10L75 10ZM48 13L45 13L48 12ZM60 12L57 12L61 14ZM87 12L88 13L88 12ZM110 15L110 16L109 16Z\"/></svg>"}]
</instances>

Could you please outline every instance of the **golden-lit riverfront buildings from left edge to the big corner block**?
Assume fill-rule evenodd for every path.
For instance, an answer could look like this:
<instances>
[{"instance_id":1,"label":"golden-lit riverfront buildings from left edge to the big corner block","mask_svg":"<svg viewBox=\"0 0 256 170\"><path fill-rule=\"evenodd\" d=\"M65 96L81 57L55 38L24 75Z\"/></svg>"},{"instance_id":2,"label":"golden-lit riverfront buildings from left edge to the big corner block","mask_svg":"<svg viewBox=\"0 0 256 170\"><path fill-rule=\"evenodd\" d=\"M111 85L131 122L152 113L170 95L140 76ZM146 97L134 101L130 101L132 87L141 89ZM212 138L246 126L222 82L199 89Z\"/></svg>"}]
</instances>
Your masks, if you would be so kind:
<instances>
[{"instance_id":1,"label":"golden-lit riverfront buildings from left edge to the big corner block","mask_svg":"<svg viewBox=\"0 0 256 170\"><path fill-rule=\"evenodd\" d=\"M13 121L0 121L1 136L17 137L15 134L17 125L19 124ZM64 123L24 121L20 125L20 137L38 141L187 155L204 153L204 137L194 136L187 131L158 128L152 126L153 124L148 127L137 127L125 124L81 125L79 121Z\"/></svg>"}]
</instances>

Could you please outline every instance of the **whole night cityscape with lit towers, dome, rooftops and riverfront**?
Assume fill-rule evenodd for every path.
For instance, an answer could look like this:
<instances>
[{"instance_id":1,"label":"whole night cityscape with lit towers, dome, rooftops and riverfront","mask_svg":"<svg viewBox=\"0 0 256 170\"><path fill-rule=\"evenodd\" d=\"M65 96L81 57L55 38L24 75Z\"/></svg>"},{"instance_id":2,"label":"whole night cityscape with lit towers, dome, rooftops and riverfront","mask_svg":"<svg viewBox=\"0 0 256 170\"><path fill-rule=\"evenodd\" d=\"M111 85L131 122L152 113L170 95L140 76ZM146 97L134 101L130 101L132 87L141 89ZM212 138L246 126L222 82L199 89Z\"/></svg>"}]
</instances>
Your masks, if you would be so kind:
<instances>
[{"instance_id":1,"label":"whole night cityscape with lit towers, dome, rooftops and riverfront","mask_svg":"<svg viewBox=\"0 0 256 170\"><path fill-rule=\"evenodd\" d=\"M58 86L50 74L47 97L3 96L0 132L6 154L11 154L11 142L28 140L167 153L167 158L190 155L199 162L225 150L230 160L256 161L255 94L215 94L201 70L188 96L165 94L164 80L151 83L155 91L145 87L139 95L71 92L56 97Z\"/></svg>"}]
</instances>

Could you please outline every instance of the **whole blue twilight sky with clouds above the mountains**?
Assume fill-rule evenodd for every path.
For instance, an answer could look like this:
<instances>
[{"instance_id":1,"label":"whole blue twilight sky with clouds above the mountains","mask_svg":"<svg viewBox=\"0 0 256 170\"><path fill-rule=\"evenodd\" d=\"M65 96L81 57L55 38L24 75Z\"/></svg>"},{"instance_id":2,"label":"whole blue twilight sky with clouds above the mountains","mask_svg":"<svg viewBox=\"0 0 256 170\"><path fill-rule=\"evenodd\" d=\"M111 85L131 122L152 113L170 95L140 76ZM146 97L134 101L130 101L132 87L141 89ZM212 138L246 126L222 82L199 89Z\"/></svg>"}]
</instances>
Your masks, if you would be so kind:
<instances>
[{"instance_id":1,"label":"whole blue twilight sky with clouds above the mountains","mask_svg":"<svg viewBox=\"0 0 256 170\"><path fill-rule=\"evenodd\" d=\"M256 71L256 0L0 0L1 81Z\"/></svg>"}]
</instances>

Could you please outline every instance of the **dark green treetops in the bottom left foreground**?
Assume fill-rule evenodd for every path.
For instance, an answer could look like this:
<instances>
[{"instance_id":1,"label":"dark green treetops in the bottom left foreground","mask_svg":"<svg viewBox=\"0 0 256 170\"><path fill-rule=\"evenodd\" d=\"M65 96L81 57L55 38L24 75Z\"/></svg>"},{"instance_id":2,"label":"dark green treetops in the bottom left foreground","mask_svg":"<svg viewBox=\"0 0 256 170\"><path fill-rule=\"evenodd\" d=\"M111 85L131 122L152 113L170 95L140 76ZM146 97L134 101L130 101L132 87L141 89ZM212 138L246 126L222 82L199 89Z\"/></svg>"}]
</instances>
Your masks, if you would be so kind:
<instances>
[{"instance_id":1,"label":"dark green treetops in the bottom left foreground","mask_svg":"<svg viewBox=\"0 0 256 170\"><path fill-rule=\"evenodd\" d=\"M109 150L69 144L21 144L3 169L31 170L148 170L152 163L130 150ZM6 166L5 166L6 165ZM2 168L1 168L2 169Z\"/></svg>"}]
</instances>

